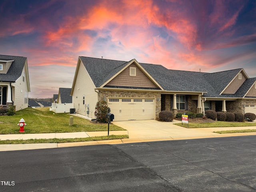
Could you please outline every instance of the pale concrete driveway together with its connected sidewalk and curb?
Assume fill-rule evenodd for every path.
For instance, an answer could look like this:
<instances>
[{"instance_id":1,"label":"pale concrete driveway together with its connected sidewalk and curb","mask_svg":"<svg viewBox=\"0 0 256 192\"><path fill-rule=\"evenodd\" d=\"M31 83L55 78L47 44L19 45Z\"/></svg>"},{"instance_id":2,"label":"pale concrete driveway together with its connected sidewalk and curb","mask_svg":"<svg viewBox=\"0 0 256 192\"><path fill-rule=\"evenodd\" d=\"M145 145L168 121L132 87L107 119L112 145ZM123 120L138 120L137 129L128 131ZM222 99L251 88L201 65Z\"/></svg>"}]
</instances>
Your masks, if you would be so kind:
<instances>
[{"instance_id":1,"label":"pale concrete driveway together with its connected sidewalk and curb","mask_svg":"<svg viewBox=\"0 0 256 192\"><path fill-rule=\"evenodd\" d=\"M234 133L234 134L218 134L215 131L222 130L244 130L256 129L251 127L224 127L224 128L184 128L174 125L180 121L160 122L157 120L140 120L140 121L122 121L112 122L120 126L126 131L110 131L110 135L129 135L129 139L119 140L102 140L89 142L73 142L73 143L46 143L46 144L6 144L0 145L0 151L9 150L28 150L42 148L58 148L70 146L85 146L98 144L121 144L133 142L149 142L159 140L181 140L196 138L212 138L212 137L228 137L228 136L248 136L256 135L256 132ZM47 138L86 138L93 136L106 136L107 131L98 132L72 132L72 133L43 133L43 134L5 134L0 135L0 140L27 140L27 139L47 139Z\"/></svg>"}]
</instances>

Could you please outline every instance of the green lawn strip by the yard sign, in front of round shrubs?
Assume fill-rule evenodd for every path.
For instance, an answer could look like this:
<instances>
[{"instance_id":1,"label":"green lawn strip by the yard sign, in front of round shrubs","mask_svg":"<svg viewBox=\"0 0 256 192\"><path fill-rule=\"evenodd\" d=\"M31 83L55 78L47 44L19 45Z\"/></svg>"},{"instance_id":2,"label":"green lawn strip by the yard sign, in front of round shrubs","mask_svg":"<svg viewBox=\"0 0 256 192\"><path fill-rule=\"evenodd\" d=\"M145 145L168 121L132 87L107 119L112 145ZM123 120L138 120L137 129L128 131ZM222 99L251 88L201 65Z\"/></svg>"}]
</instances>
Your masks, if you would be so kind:
<instances>
[{"instance_id":1,"label":"green lawn strip by the yard sign, in front of round shrubs","mask_svg":"<svg viewBox=\"0 0 256 192\"><path fill-rule=\"evenodd\" d=\"M175 123L174 125L186 127L186 128L211 128L211 127L245 127L245 126L256 126L256 123L247 122L227 122L227 121L216 121L211 123Z\"/></svg>"}]
</instances>

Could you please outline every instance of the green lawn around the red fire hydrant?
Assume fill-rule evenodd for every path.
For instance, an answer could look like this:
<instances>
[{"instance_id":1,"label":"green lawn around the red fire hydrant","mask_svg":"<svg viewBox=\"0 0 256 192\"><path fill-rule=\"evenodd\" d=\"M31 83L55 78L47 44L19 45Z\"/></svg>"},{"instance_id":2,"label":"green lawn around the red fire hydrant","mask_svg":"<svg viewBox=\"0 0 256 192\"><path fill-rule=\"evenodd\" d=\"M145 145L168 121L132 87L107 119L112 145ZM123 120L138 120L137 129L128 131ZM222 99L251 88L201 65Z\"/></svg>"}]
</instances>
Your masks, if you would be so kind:
<instances>
[{"instance_id":1,"label":"green lawn around the red fire hydrant","mask_svg":"<svg viewBox=\"0 0 256 192\"><path fill-rule=\"evenodd\" d=\"M90 120L74 116L72 126L68 126L69 114L54 114L49 108L26 108L16 112L14 116L0 116L0 134L20 134L20 127L17 125L20 119L26 122L25 132L28 133L64 133L83 131L107 131L108 123L99 124ZM125 130L121 127L110 124L110 130Z\"/></svg>"}]
</instances>

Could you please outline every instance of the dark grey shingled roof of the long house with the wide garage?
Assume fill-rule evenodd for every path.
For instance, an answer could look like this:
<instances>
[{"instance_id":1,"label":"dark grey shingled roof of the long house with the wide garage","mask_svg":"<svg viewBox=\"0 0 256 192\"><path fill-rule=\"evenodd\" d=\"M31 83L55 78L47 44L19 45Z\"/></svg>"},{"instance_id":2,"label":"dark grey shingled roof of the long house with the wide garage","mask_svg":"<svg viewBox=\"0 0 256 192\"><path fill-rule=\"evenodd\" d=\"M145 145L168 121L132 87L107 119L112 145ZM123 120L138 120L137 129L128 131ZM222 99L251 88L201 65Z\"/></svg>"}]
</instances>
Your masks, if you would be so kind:
<instances>
[{"instance_id":1,"label":"dark grey shingled roof of the long house with the wide garage","mask_svg":"<svg viewBox=\"0 0 256 192\"><path fill-rule=\"evenodd\" d=\"M102 86L130 62L83 56L79 58L96 87ZM254 78L249 78L240 89L238 89L236 94L220 95L242 68L215 73L204 73L169 70L157 64L140 63L140 65L162 88L164 88L164 90L176 92L204 92L205 97L243 97L252 86L252 83L255 82Z\"/></svg>"}]
</instances>

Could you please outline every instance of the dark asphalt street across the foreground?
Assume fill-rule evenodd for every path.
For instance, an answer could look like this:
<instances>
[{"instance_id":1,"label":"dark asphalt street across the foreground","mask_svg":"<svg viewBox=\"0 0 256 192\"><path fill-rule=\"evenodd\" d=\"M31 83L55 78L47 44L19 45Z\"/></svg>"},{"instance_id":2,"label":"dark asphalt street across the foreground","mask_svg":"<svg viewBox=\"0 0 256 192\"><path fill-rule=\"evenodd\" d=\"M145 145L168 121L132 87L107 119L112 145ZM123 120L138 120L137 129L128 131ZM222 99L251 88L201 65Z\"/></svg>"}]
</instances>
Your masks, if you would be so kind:
<instances>
[{"instance_id":1,"label":"dark asphalt street across the foreground","mask_svg":"<svg viewBox=\"0 0 256 192\"><path fill-rule=\"evenodd\" d=\"M256 192L256 136L0 152L1 192Z\"/></svg>"}]
</instances>

